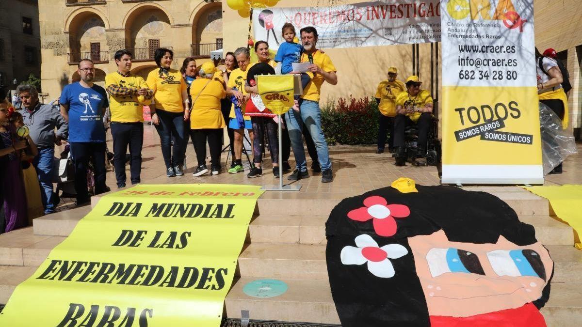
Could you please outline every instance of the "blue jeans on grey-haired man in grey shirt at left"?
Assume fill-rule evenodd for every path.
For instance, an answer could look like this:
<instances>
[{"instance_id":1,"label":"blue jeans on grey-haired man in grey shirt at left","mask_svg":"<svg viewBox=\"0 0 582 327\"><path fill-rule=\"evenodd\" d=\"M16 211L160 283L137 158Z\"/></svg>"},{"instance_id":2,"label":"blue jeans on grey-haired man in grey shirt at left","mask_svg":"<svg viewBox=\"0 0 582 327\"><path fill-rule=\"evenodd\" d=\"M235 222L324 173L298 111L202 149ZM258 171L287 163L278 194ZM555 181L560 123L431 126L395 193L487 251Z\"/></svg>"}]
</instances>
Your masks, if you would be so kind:
<instances>
[{"instance_id":1,"label":"blue jeans on grey-haired man in grey shirt at left","mask_svg":"<svg viewBox=\"0 0 582 327\"><path fill-rule=\"evenodd\" d=\"M52 158L55 157L55 148L38 148L38 154L34 157L33 165L37 170L38 182L41 188L41 200L44 213L55 211L58 204L57 196L52 189Z\"/></svg>"}]
</instances>

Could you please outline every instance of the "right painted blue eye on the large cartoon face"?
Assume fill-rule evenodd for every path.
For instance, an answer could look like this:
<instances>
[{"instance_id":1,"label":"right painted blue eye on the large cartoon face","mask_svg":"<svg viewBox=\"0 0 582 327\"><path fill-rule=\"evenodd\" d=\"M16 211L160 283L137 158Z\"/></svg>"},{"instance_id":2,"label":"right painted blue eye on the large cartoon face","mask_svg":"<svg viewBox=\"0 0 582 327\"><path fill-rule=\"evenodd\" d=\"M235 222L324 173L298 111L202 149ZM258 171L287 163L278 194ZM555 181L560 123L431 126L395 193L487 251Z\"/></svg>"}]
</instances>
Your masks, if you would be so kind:
<instances>
[{"instance_id":1,"label":"right painted blue eye on the large cartoon face","mask_svg":"<svg viewBox=\"0 0 582 327\"><path fill-rule=\"evenodd\" d=\"M540 254L534 250L495 250L487 253L498 276L534 276L546 279Z\"/></svg>"}]
</instances>

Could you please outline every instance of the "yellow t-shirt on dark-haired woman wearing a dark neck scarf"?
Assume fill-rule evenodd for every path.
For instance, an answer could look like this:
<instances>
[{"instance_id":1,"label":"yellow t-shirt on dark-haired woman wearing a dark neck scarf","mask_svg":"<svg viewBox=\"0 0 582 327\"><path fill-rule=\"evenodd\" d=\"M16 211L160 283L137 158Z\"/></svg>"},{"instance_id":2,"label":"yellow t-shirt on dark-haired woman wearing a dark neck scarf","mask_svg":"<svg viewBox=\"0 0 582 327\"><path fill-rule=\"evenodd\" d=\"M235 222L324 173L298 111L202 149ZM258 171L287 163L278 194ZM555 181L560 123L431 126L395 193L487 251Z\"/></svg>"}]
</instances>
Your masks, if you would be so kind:
<instances>
[{"instance_id":1,"label":"yellow t-shirt on dark-haired woman wearing a dark neck scarf","mask_svg":"<svg viewBox=\"0 0 582 327\"><path fill-rule=\"evenodd\" d=\"M155 109L168 112L183 112L182 92L186 91L186 81L178 70L170 69L168 76L159 76L159 68L152 70L145 83L154 90Z\"/></svg>"}]
</instances>

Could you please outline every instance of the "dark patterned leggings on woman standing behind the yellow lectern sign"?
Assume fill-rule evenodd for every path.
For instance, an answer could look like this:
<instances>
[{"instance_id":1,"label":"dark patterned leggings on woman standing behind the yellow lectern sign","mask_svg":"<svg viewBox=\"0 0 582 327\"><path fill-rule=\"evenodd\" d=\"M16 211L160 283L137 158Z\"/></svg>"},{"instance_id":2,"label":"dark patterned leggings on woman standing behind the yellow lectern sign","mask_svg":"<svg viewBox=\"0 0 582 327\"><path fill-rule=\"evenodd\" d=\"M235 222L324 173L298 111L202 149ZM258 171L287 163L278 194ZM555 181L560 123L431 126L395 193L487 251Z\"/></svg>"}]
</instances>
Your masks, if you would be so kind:
<instances>
[{"instance_id":1,"label":"dark patterned leggings on woman standing behind the yellow lectern sign","mask_svg":"<svg viewBox=\"0 0 582 327\"><path fill-rule=\"evenodd\" d=\"M277 139L277 123L269 117L251 117L253 123L253 162L262 162L262 145L265 129L269 139L269 152L272 163L279 163L279 141Z\"/></svg>"}]
</instances>

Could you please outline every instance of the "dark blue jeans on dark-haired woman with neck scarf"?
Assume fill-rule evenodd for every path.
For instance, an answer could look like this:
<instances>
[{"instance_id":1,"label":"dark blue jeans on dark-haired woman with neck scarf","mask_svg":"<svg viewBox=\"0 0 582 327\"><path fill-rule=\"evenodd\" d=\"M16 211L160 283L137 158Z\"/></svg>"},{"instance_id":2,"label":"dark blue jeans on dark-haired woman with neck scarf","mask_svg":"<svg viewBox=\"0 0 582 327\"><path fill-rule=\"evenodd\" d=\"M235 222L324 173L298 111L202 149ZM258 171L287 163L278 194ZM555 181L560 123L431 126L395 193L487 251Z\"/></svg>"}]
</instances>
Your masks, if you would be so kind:
<instances>
[{"instance_id":1,"label":"dark blue jeans on dark-haired woman with neck scarf","mask_svg":"<svg viewBox=\"0 0 582 327\"><path fill-rule=\"evenodd\" d=\"M166 169L184 164L186 154L186 131L184 130L184 113L155 111L159 117L159 125L155 126L162 145L162 156L166 163ZM172 146L173 142L173 146Z\"/></svg>"}]
</instances>

